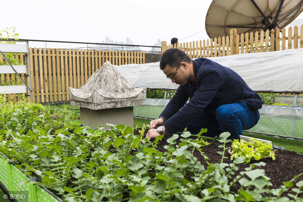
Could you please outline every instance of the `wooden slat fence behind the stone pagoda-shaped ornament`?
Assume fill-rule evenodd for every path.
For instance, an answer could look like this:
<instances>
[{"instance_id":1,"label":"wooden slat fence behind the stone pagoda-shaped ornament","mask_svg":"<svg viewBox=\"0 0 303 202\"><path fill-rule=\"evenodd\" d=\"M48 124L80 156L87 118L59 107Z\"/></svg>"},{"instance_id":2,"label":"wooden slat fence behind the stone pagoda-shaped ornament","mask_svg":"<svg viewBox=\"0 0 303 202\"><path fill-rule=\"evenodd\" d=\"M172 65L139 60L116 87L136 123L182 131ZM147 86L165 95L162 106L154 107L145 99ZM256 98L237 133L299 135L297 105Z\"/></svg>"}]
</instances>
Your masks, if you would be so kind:
<instances>
[{"instance_id":1,"label":"wooden slat fence behind the stone pagoda-shaped ornament","mask_svg":"<svg viewBox=\"0 0 303 202\"><path fill-rule=\"evenodd\" d=\"M58 48L29 48L29 50L32 101L42 104L68 102L68 87L83 86L105 61L113 65L145 63L145 53L142 51ZM24 55L16 57L24 58ZM7 75L6 78L2 75L1 79L9 81L11 75ZM29 79L27 78L26 81L29 86ZM8 94L8 100L19 101L18 96L20 97L17 94ZM29 93L27 98L30 100Z\"/></svg>"}]
</instances>

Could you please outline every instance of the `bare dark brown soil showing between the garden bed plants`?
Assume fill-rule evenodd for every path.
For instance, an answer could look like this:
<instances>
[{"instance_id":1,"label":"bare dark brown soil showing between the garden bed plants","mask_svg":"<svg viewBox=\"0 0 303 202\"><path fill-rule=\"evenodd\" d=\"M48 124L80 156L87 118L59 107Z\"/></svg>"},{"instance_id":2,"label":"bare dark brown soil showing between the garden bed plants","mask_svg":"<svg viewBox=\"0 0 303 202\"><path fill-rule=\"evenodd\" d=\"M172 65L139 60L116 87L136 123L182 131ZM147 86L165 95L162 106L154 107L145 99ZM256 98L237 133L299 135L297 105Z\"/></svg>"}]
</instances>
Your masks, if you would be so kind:
<instances>
[{"instance_id":1,"label":"bare dark brown soil showing between the garden bed plants","mask_svg":"<svg viewBox=\"0 0 303 202\"><path fill-rule=\"evenodd\" d=\"M148 129L145 131L145 133L148 131ZM169 134L165 134L164 138L159 141L157 144L157 150L159 152L165 152L167 151L164 146L167 145L167 139L171 136ZM192 137L192 139L195 139L196 137ZM222 156L217 153L217 151L223 151L223 148L219 148L218 146L221 145L217 139L204 139L205 141L211 143L208 146L203 147L202 151L204 154L206 154L207 157L209 157L208 162L215 164L220 163ZM180 143L180 141L177 140L177 144ZM226 147L230 147L231 142L226 144ZM204 167L207 167L206 161L203 158L203 156L200 154L199 151L195 150L193 155L198 159L198 161L201 162ZM225 151L225 156L228 158L225 158L223 160L223 163L230 164L233 161L230 160L230 154ZM275 150L275 160L272 160L271 158L263 158L259 161L251 160L248 164L237 164L239 167L238 171L234 171L235 175L237 176L240 174L241 171L245 171L246 167L249 167L250 164L258 163L260 161L263 161L266 163L265 166L262 167L255 167L256 169L263 169L265 170L265 174L267 177L271 178L272 186L270 188L280 188L281 185L283 185L283 182L289 181L293 179L296 175L303 173L303 154L298 154L294 151L278 151ZM303 180L303 175L298 177L293 183ZM240 188L239 184L234 184L231 187L231 191L236 191ZM288 193L294 194L291 189L287 192L285 192L282 196L287 195ZM303 194L300 194L300 197L303 197Z\"/></svg>"}]
</instances>

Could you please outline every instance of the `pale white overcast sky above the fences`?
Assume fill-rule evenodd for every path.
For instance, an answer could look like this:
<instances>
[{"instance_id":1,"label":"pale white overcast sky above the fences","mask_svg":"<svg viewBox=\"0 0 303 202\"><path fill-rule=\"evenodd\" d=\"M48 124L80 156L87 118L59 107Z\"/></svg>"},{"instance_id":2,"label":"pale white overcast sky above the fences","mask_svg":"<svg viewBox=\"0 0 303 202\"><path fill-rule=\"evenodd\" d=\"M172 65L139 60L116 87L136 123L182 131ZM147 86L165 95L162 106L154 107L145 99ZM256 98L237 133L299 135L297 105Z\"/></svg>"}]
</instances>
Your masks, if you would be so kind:
<instances>
[{"instance_id":1,"label":"pale white overcast sky above the fences","mask_svg":"<svg viewBox=\"0 0 303 202\"><path fill-rule=\"evenodd\" d=\"M150 46L158 39L170 42L172 37L179 42L206 40L205 16L211 2L15 0L2 8L0 30L16 26L21 39L102 43L105 37L118 42L130 38L135 45ZM43 48L45 43L30 46ZM56 46L47 44L47 48L74 48L72 44Z\"/></svg>"}]
</instances>

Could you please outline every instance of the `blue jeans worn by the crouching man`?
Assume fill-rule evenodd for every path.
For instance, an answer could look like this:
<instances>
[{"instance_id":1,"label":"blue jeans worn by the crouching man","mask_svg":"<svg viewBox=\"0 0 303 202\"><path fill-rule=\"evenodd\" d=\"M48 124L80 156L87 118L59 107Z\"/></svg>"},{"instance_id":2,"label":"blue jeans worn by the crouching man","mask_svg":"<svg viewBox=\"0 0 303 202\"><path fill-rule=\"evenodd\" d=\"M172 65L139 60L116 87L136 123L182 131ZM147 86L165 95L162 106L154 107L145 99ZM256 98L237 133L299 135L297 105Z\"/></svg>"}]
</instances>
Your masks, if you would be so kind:
<instances>
[{"instance_id":1,"label":"blue jeans worn by the crouching man","mask_svg":"<svg viewBox=\"0 0 303 202\"><path fill-rule=\"evenodd\" d=\"M201 128L207 128L203 136L215 137L223 132L229 132L229 139L240 139L242 130L254 127L260 119L257 109L248 108L244 102L225 104L217 108L216 114L202 111L185 126L191 134L198 134ZM183 128L183 130L184 130Z\"/></svg>"}]
</instances>

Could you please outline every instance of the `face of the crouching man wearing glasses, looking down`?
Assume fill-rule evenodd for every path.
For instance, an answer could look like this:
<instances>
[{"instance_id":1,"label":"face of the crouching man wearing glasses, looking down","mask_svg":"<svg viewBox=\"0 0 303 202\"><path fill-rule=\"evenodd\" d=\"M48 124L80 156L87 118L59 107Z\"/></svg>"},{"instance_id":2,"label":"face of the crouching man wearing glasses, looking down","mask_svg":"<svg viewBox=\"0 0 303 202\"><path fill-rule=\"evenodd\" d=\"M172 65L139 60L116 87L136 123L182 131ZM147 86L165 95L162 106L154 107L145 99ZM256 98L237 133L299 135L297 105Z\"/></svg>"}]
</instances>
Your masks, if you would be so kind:
<instances>
[{"instance_id":1,"label":"face of the crouching man wearing glasses, looking down","mask_svg":"<svg viewBox=\"0 0 303 202\"><path fill-rule=\"evenodd\" d=\"M171 78L171 82L184 86L188 82L188 78L186 76L187 74L184 68L185 64L185 62L181 62L180 66L175 68L172 68L167 64L162 71L166 75L166 77L173 75L175 72L175 74L173 75L174 78Z\"/></svg>"}]
</instances>

